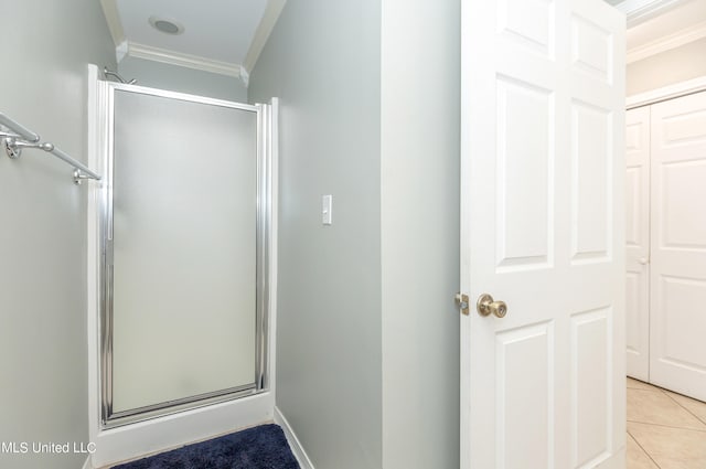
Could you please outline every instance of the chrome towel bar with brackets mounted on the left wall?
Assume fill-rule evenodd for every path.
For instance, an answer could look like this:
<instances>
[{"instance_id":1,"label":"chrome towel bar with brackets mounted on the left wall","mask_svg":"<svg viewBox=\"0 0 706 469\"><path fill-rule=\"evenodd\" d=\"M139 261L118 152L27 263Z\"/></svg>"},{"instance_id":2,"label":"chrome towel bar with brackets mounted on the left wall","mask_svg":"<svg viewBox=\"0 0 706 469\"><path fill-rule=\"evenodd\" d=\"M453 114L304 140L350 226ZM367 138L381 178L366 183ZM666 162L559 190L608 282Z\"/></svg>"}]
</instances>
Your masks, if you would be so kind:
<instances>
[{"instance_id":1,"label":"chrome towel bar with brackets mounted on the left wall","mask_svg":"<svg viewBox=\"0 0 706 469\"><path fill-rule=\"evenodd\" d=\"M42 142L38 134L21 124L15 122L2 113L0 113L0 126L8 129L4 130L0 127L0 139L2 139L4 151L8 153L8 157L13 160L20 158L20 156L22 156L22 150L25 148L44 150L74 167L74 183L81 184L84 179L95 179L96 181L100 181L100 177L89 170L85 164L64 153L53 143Z\"/></svg>"}]
</instances>

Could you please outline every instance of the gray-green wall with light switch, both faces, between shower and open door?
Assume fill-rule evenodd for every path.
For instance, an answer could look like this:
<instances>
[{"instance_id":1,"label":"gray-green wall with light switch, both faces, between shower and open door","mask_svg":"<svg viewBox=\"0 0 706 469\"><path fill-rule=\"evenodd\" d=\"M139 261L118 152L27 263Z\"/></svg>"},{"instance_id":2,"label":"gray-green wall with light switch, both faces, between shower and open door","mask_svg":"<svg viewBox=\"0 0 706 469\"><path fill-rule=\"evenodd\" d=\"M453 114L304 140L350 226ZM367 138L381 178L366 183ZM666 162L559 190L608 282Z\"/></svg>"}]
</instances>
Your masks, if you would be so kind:
<instances>
[{"instance_id":1,"label":"gray-green wall with light switch, both faces, between shower and open door","mask_svg":"<svg viewBox=\"0 0 706 469\"><path fill-rule=\"evenodd\" d=\"M458 468L459 8L290 0L252 74L282 105L277 405L317 469Z\"/></svg>"}]
</instances>

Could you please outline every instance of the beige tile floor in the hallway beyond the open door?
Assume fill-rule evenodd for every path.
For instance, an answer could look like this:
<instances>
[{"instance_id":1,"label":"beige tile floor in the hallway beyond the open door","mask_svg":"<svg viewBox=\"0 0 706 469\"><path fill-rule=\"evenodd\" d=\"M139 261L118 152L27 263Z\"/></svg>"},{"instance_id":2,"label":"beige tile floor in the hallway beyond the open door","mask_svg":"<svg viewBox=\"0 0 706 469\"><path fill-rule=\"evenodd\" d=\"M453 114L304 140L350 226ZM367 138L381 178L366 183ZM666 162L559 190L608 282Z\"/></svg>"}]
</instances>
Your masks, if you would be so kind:
<instances>
[{"instance_id":1,"label":"beige tile floor in the hallway beyond the open door","mask_svg":"<svg viewBox=\"0 0 706 469\"><path fill-rule=\"evenodd\" d=\"M706 403L629 377L628 469L706 469Z\"/></svg>"}]
</instances>

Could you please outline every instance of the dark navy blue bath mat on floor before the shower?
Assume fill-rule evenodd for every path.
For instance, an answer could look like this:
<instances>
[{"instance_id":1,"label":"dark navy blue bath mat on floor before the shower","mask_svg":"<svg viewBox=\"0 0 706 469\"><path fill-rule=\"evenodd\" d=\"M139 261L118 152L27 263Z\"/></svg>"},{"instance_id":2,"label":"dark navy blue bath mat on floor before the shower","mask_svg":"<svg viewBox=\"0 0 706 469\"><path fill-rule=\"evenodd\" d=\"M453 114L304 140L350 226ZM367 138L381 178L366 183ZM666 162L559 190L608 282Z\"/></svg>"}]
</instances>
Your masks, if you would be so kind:
<instances>
[{"instance_id":1,"label":"dark navy blue bath mat on floor before the shower","mask_svg":"<svg viewBox=\"0 0 706 469\"><path fill-rule=\"evenodd\" d=\"M282 429L261 425L114 469L299 469Z\"/></svg>"}]
</instances>

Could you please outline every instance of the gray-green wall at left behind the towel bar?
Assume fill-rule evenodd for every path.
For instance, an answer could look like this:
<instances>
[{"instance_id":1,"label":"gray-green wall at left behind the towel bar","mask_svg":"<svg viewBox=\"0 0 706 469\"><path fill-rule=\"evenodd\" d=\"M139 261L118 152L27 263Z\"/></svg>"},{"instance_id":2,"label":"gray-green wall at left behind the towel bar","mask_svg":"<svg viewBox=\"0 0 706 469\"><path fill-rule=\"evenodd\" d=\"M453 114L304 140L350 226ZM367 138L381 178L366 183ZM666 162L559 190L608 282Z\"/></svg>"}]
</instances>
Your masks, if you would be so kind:
<instances>
[{"instance_id":1,"label":"gray-green wall at left behind the towel bar","mask_svg":"<svg viewBox=\"0 0 706 469\"><path fill-rule=\"evenodd\" d=\"M0 29L0 111L86 161L87 63L115 64L94 0L12 2ZM39 150L0 154L0 441L87 443L86 186ZM85 455L0 454L71 468Z\"/></svg>"}]
</instances>

